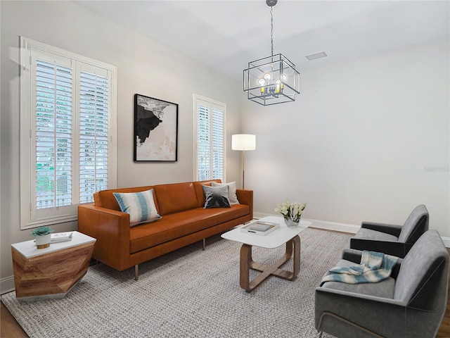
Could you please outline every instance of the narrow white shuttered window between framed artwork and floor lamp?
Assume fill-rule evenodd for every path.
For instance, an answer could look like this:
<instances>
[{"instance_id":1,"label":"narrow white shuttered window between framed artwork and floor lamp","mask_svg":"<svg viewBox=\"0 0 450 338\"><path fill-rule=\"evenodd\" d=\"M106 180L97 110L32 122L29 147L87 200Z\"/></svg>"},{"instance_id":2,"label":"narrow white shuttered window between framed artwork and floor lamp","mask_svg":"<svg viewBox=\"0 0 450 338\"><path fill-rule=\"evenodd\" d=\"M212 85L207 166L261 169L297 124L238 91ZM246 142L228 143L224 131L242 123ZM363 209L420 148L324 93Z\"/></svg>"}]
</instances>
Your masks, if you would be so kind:
<instances>
[{"instance_id":1,"label":"narrow white shuttered window between framed artwork and floor lamp","mask_svg":"<svg viewBox=\"0 0 450 338\"><path fill-rule=\"evenodd\" d=\"M193 94L194 180L226 182L226 104Z\"/></svg>"}]
</instances>

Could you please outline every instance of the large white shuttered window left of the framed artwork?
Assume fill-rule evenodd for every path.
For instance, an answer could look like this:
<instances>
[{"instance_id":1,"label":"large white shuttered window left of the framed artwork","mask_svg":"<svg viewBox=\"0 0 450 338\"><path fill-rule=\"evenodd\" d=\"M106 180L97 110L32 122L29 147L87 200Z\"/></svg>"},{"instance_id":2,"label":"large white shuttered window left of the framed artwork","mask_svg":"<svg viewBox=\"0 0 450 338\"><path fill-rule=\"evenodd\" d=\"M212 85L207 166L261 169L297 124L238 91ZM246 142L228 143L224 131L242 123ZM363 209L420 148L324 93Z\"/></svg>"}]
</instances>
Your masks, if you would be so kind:
<instances>
[{"instance_id":1,"label":"large white shuttered window left of the framed artwork","mask_svg":"<svg viewBox=\"0 0 450 338\"><path fill-rule=\"evenodd\" d=\"M113 65L20 38L20 227L77 219L116 184Z\"/></svg>"}]
</instances>

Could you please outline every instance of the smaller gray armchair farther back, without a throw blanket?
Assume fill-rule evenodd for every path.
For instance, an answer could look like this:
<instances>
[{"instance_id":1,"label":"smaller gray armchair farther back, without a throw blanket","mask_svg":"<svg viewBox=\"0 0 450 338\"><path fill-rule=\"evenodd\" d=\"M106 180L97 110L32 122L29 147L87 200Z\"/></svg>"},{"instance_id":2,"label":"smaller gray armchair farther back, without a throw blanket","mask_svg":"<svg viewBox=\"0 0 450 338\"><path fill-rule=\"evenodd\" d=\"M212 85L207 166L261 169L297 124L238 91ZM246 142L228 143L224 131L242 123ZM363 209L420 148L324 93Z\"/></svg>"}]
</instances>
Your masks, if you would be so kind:
<instances>
[{"instance_id":1,"label":"smaller gray armchair farther back, without a throw blanket","mask_svg":"<svg viewBox=\"0 0 450 338\"><path fill-rule=\"evenodd\" d=\"M411 246L428 230L429 218L427 208L420 204L414 208L404 225L363 222L350 239L350 248L404 258Z\"/></svg>"}]
</instances>

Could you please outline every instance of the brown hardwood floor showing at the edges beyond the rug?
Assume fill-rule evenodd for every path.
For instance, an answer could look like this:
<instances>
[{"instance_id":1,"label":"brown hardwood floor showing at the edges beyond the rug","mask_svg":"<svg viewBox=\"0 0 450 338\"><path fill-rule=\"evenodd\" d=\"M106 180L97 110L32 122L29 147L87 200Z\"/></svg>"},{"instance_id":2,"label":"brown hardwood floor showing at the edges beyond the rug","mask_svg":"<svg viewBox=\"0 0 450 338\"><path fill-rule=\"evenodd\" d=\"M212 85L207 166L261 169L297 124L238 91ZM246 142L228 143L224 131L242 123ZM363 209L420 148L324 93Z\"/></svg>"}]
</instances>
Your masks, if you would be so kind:
<instances>
[{"instance_id":1,"label":"brown hardwood floor showing at the edges beyond the rug","mask_svg":"<svg viewBox=\"0 0 450 338\"><path fill-rule=\"evenodd\" d=\"M447 248L450 253L450 249ZM449 268L450 278L450 268ZM28 338L27 334L22 327L15 321L11 313L9 313L6 306L1 303L0 313L0 337L1 338ZM450 284L449 284L449 296L447 297L447 308L445 311L445 317L442 320L441 327L437 332L436 338L450 338Z\"/></svg>"}]
</instances>

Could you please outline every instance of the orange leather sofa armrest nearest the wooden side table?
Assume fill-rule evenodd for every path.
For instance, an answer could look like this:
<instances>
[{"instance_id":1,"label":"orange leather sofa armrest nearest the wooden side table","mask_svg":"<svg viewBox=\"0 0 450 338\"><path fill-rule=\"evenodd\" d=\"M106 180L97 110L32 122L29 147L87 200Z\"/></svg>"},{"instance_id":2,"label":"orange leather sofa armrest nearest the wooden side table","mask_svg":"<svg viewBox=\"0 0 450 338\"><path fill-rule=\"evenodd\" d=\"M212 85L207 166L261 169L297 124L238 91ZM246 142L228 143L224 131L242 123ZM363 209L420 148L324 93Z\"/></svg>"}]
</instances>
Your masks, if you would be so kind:
<instances>
[{"instance_id":1,"label":"orange leather sofa armrest nearest the wooden side table","mask_svg":"<svg viewBox=\"0 0 450 338\"><path fill-rule=\"evenodd\" d=\"M129 214L83 204L78 206L78 231L97 239L93 258L116 270L129 267Z\"/></svg>"}]
</instances>

